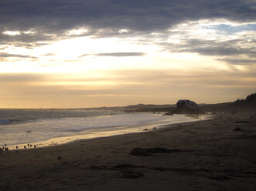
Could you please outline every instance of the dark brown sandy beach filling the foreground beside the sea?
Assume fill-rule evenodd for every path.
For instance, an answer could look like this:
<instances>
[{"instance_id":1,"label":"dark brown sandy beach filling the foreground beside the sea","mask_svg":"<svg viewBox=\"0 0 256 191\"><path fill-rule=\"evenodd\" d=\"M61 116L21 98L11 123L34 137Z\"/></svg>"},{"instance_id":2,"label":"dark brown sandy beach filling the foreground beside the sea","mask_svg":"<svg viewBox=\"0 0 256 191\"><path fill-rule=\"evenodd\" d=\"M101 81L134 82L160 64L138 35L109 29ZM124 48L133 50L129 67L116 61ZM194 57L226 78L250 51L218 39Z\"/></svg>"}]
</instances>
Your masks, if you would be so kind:
<instances>
[{"instance_id":1,"label":"dark brown sandy beach filling the foreground beside the sea","mask_svg":"<svg viewBox=\"0 0 256 191\"><path fill-rule=\"evenodd\" d=\"M135 147L181 152L133 156ZM5 152L0 190L256 190L256 115Z\"/></svg>"}]
</instances>

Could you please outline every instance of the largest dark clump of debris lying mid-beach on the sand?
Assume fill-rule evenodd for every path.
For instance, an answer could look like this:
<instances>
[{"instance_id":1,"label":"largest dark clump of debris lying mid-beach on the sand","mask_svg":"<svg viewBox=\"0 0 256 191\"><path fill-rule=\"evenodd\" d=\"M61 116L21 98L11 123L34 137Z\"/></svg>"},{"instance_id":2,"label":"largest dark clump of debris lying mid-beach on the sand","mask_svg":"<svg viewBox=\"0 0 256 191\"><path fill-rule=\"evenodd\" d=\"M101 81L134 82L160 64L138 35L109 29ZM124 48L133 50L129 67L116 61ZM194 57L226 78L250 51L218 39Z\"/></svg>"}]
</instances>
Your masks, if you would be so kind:
<instances>
[{"instance_id":1,"label":"largest dark clump of debris lying mid-beach on the sand","mask_svg":"<svg viewBox=\"0 0 256 191\"><path fill-rule=\"evenodd\" d=\"M148 148L148 149L135 148L131 150L130 154L134 156L151 156L153 153L171 153L171 152L182 152L182 151L183 150L180 150L180 149L166 149L161 147Z\"/></svg>"}]
</instances>

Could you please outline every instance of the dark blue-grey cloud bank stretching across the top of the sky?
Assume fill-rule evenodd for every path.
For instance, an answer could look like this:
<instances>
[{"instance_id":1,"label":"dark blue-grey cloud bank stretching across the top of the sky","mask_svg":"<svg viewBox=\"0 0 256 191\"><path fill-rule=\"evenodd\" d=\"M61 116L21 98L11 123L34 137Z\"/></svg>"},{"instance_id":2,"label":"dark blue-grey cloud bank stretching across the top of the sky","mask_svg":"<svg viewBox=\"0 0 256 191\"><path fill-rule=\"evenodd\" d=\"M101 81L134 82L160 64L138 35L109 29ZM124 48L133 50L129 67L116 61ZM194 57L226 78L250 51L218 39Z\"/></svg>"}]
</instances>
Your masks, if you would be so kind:
<instances>
[{"instance_id":1,"label":"dark blue-grey cloud bank stretching across the top of the sky","mask_svg":"<svg viewBox=\"0 0 256 191\"><path fill-rule=\"evenodd\" d=\"M244 0L9 0L0 2L0 33L6 30L36 33L1 35L4 42L37 42L63 37L71 28L87 27L89 33L105 28L107 35L121 28L134 32L161 31L187 20L255 19L254 1ZM122 35L122 34L121 34Z\"/></svg>"}]
</instances>

